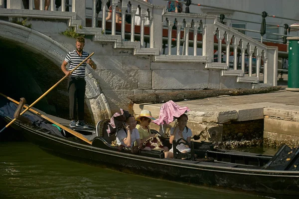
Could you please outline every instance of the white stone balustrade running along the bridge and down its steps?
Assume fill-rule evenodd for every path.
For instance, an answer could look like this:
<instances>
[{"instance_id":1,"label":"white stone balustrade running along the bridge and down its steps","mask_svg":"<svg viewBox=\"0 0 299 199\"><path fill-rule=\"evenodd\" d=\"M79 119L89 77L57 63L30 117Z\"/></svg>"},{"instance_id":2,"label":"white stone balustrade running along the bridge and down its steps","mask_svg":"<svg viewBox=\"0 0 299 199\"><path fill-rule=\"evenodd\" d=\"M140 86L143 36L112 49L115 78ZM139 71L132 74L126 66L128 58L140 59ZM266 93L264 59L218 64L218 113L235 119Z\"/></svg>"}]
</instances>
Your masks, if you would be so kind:
<instances>
[{"instance_id":1,"label":"white stone balustrade running along the bridge and down its steps","mask_svg":"<svg viewBox=\"0 0 299 199\"><path fill-rule=\"evenodd\" d=\"M7 8L11 8L11 2L16 0L7 0ZM21 3L21 0L19 0ZM29 0L29 9L33 8L34 0ZM85 24L85 0L70 0L72 1L72 11L76 12L77 16L82 20L82 24ZM106 31L106 3L108 0L102 1L102 28L99 28L100 34L108 34ZM96 0L92 0L92 27L97 28L98 15L96 13ZM51 11L54 11L54 0L51 0ZM76 6L76 3L78 6ZM65 0L61 0L61 11L65 11ZM116 7L120 7L121 11L117 12ZM128 6L129 12L126 12ZM252 77L253 69L253 57L256 57L256 74L255 76L259 80L261 61L264 63L264 83L276 85L277 76L277 59L278 50L276 47L268 47L246 35L227 27L220 22L217 22L217 16L214 15L202 15L202 14L190 14L190 13L175 13L166 12L165 6L156 6L145 2L144 0L122 0L122 3L118 3L118 0L112 0L111 4L112 13L112 27L111 34L115 35L116 32L116 14L121 14L121 40L136 41L136 28L140 28L140 45L145 48L145 27L149 27L149 48L159 49L159 54L162 54L163 45L163 28L168 31L167 36L167 55L171 55L171 43L176 41L176 53L174 55L188 55L193 57L199 57L197 55L198 43L202 43L202 56L205 56L208 63L214 62L214 36L218 40L218 60L221 62L221 52L225 51L227 68L230 66L230 52L233 52L233 67L232 70L238 70L238 52L241 53L241 69L243 75L245 73L245 56L248 54L248 76ZM39 1L39 9L44 9L44 0ZM90 9L90 8L89 8ZM137 12L138 11L138 12ZM138 14L137 14L138 13ZM28 13L27 13L28 14ZM47 14L46 12L44 13ZM131 15L131 31L130 39L126 39L126 15ZM136 26L135 16L140 17L140 24ZM146 21L148 21L147 24ZM173 30L173 26L176 30ZM148 28L147 27L147 28ZM193 38L189 41L189 32L193 32ZM197 39L198 32L202 33L202 40ZM128 34L128 33L127 33ZM172 34L175 37L172 38ZM183 35L181 35L183 34ZM182 39L181 39L182 38ZM193 41L192 41L193 40ZM189 53L189 42L193 42L193 52ZM225 44L223 43L225 42ZM181 43L183 48L181 52ZM224 49L224 50L223 50ZM166 57L167 59L167 57Z\"/></svg>"}]
</instances>

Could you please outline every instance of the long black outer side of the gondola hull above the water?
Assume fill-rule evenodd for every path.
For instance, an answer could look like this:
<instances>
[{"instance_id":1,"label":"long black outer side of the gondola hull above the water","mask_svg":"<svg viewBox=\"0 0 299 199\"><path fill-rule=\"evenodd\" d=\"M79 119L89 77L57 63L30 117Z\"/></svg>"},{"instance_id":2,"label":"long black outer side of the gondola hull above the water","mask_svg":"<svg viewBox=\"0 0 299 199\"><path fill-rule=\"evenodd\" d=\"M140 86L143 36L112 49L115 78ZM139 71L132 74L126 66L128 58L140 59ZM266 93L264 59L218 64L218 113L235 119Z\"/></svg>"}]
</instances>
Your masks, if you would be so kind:
<instances>
[{"instance_id":1,"label":"long black outer side of the gondola hull above the water","mask_svg":"<svg viewBox=\"0 0 299 199\"><path fill-rule=\"evenodd\" d=\"M91 165L174 182L262 193L267 196L299 196L299 172L270 171L260 167L244 169L236 164L152 158L91 146L81 143L75 137L67 139L49 135L21 122L13 123L12 127L21 130L28 141L42 149Z\"/></svg>"}]
</instances>

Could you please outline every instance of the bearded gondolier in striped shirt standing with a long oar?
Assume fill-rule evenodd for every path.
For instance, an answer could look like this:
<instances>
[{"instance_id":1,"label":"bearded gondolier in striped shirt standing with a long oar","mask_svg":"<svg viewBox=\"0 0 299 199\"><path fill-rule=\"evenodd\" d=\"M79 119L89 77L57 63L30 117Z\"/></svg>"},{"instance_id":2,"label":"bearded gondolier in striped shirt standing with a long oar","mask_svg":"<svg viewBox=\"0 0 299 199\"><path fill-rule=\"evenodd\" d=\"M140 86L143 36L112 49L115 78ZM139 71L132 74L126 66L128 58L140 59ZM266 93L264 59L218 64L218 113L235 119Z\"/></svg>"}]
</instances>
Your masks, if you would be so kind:
<instances>
[{"instance_id":1,"label":"bearded gondolier in striped shirt standing with a long oar","mask_svg":"<svg viewBox=\"0 0 299 199\"><path fill-rule=\"evenodd\" d=\"M83 51L85 39L78 37L76 39L76 50L67 53L64 61L61 64L61 70L65 75L69 76L68 79L68 92L69 92L69 109L70 109L70 127L80 126L88 128L88 125L84 122L84 97L85 97L85 68L89 64L94 70L97 65L92 59L88 59L85 63L79 66L72 73L70 71L74 69L79 63L89 56L88 52ZM69 69L66 69L66 65L69 64ZM78 122L75 120L76 105L78 103Z\"/></svg>"}]
</instances>

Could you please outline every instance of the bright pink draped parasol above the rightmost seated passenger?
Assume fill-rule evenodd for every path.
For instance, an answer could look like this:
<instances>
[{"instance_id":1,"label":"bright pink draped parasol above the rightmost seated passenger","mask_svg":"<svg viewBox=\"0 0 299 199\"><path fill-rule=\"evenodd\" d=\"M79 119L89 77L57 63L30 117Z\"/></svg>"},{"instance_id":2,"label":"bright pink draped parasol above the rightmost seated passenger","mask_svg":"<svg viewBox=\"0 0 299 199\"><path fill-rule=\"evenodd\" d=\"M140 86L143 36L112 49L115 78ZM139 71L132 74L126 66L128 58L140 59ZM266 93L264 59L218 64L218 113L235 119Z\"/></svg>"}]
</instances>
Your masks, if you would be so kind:
<instances>
[{"instance_id":1,"label":"bright pink draped parasol above the rightmost seated passenger","mask_svg":"<svg viewBox=\"0 0 299 199\"><path fill-rule=\"evenodd\" d=\"M160 125L160 124L169 124L172 122L175 118L180 117L182 114L190 111L187 107L180 107L176 103L174 103L172 100L169 100L168 102L165 102L162 104L160 108L159 118L156 120L153 120L152 122Z\"/></svg>"}]
</instances>

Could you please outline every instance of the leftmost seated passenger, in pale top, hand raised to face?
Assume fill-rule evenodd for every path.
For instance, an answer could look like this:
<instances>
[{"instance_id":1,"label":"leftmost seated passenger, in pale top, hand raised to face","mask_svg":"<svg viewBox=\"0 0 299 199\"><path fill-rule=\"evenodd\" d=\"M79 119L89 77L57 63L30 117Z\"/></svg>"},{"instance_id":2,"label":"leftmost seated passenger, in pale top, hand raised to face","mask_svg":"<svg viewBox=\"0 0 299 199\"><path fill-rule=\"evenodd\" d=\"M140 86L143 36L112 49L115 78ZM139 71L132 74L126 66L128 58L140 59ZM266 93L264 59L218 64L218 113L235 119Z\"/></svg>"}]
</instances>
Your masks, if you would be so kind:
<instances>
[{"instance_id":1,"label":"leftmost seated passenger, in pale top, hand raised to face","mask_svg":"<svg viewBox=\"0 0 299 199\"><path fill-rule=\"evenodd\" d=\"M125 129L121 129L116 134L116 142L118 145L125 147L133 147L136 141L138 146L141 146L139 132L136 129L135 117L130 115L123 124Z\"/></svg>"}]
</instances>

